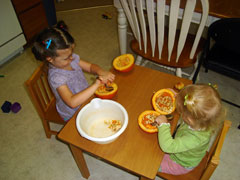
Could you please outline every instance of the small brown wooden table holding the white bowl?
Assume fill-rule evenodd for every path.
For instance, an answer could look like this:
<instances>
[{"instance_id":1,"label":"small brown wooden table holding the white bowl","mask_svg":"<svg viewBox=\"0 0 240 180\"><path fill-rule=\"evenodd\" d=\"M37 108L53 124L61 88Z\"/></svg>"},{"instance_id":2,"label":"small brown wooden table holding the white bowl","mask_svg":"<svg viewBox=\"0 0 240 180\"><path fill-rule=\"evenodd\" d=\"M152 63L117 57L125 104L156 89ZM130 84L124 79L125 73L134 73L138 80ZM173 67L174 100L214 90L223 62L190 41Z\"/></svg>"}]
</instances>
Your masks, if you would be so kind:
<instances>
[{"instance_id":1,"label":"small brown wooden table holding the white bowl","mask_svg":"<svg viewBox=\"0 0 240 180\"><path fill-rule=\"evenodd\" d=\"M185 85L192 81L145 67L136 66L131 72L116 74L118 93L113 100L122 104L128 112L129 123L125 132L110 144L96 144L80 136L76 129L76 114L58 134L59 139L68 143L76 163L85 178L89 171L82 152L116 165L141 179L154 179L164 153L158 145L157 133L148 134L137 123L139 114L151 110L151 98L154 92L162 88L172 88L182 81ZM179 116L174 113L172 131Z\"/></svg>"}]
</instances>

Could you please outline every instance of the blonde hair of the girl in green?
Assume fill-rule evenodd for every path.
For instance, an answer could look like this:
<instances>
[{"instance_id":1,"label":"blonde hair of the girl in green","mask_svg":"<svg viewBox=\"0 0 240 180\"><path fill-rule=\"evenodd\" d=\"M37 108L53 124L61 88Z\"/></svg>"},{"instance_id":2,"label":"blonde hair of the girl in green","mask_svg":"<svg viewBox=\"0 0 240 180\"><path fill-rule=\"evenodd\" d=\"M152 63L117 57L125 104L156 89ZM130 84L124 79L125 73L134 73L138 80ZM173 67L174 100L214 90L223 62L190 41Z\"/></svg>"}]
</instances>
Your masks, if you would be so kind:
<instances>
[{"instance_id":1,"label":"blonde hair of the girl in green","mask_svg":"<svg viewBox=\"0 0 240 180\"><path fill-rule=\"evenodd\" d=\"M176 97L176 108L200 129L214 131L223 119L220 95L205 84L186 86Z\"/></svg>"}]
</instances>

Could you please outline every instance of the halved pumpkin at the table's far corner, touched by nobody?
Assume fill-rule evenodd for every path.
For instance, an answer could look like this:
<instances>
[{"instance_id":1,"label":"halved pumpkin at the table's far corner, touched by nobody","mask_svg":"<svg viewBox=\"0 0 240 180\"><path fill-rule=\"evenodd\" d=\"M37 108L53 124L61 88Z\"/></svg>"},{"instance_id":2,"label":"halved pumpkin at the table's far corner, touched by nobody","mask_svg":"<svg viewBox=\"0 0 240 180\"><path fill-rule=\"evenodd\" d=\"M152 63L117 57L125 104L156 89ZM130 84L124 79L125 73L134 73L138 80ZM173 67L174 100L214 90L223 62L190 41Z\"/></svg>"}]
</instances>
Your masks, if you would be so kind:
<instances>
[{"instance_id":1,"label":"halved pumpkin at the table's far corner, touched by nobody","mask_svg":"<svg viewBox=\"0 0 240 180\"><path fill-rule=\"evenodd\" d=\"M113 60L113 67L120 72L129 72L134 67L134 57L132 54L123 54Z\"/></svg>"}]
</instances>

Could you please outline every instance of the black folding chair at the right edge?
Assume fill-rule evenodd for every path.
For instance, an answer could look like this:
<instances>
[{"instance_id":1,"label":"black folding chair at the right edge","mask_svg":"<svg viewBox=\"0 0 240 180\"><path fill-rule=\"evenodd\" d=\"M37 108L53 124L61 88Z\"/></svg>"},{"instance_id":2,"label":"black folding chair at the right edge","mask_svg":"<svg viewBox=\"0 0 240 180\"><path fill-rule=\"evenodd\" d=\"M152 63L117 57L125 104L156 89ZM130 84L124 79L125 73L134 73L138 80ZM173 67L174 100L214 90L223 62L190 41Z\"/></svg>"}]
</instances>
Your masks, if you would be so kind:
<instances>
[{"instance_id":1,"label":"black folding chair at the right edge","mask_svg":"<svg viewBox=\"0 0 240 180\"><path fill-rule=\"evenodd\" d=\"M201 65L230 78L240 80L240 18L219 19L208 28L206 44L199 61L193 82L197 78ZM226 99L222 101L240 108L239 104Z\"/></svg>"}]
</instances>

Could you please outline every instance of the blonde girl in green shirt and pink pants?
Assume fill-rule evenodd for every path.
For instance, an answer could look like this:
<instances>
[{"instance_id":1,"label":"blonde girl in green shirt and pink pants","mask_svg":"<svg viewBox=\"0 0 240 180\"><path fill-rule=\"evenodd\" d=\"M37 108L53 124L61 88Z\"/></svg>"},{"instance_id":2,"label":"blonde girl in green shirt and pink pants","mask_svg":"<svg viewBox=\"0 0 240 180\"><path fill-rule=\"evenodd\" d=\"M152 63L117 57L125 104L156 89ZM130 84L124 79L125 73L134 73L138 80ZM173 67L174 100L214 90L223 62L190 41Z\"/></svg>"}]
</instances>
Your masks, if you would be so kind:
<instances>
[{"instance_id":1,"label":"blonde girl in green shirt and pink pants","mask_svg":"<svg viewBox=\"0 0 240 180\"><path fill-rule=\"evenodd\" d=\"M176 109L182 122L174 137L165 116L159 116L156 121L159 145L166 153L159 170L179 175L188 173L200 163L223 113L216 89L200 84L188 85L176 95Z\"/></svg>"}]
</instances>

